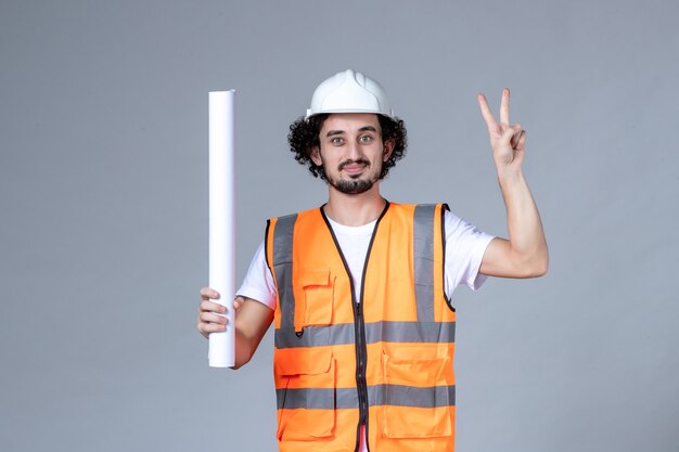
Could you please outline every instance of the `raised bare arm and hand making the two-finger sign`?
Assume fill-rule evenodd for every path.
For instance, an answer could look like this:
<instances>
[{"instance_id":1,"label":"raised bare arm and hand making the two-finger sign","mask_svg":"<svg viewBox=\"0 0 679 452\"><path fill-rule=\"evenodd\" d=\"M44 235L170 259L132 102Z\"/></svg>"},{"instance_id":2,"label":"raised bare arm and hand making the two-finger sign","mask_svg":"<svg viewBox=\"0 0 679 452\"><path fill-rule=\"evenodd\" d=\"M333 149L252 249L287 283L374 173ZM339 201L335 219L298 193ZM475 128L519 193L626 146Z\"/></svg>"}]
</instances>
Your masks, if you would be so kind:
<instances>
[{"instance_id":1,"label":"raised bare arm and hand making the two-finger sign","mask_svg":"<svg viewBox=\"0 0 679 452\"><path fill-rule=\"evenodd\" d=\"M490 242L479 272L490 276L535 277L547 273L549 251L538 208L523 175L526 132L518 124L510 125L509 100L509 89L504 89L500 122L497 122L486 98L478 95L507 206L509 230L509 240L495 238Z\"/></svg>"}]
</instances>

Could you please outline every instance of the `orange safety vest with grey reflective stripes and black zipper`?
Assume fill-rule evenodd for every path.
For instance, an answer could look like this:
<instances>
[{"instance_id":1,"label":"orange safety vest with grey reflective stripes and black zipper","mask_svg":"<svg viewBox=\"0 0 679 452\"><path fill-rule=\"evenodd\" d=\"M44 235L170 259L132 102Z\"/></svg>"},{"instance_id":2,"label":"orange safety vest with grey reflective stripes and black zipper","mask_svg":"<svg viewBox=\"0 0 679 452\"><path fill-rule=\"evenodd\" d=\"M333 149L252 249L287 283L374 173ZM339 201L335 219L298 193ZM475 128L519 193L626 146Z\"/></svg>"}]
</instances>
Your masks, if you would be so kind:
<instances>
[{"instance_id":1,"label":"orange safety vest with grey reflective stripes and black zipper","mask_svg":"<svg viewBox=\"0 0 679 452\"><path fill-rule=\"evenodd\" d=\"M269 220L281 452L357 451L363 424L371 452L453 451L444 209L387 203L358 300L322 208Z\"/></svg>"}]
</instances>

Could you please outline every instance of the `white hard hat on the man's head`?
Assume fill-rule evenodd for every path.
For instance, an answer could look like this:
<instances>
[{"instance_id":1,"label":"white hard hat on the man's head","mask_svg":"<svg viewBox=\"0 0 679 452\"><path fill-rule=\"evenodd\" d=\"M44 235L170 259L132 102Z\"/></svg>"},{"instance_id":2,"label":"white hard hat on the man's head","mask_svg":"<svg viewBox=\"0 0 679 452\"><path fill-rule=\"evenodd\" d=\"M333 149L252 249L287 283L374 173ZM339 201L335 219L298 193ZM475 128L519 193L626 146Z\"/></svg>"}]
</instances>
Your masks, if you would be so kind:
<instances>
[{"instance_id":1,"label":"white hard hat on the man's head","mask_svg":"<svg viewBox=\"0 0 679 452\"><path fill-rule=\"evenodd\" d=\"M384 88L361 73L337 73L316 88L307 116L322 113L375 113L394 119Z\"/></svg>"}]
</instances>

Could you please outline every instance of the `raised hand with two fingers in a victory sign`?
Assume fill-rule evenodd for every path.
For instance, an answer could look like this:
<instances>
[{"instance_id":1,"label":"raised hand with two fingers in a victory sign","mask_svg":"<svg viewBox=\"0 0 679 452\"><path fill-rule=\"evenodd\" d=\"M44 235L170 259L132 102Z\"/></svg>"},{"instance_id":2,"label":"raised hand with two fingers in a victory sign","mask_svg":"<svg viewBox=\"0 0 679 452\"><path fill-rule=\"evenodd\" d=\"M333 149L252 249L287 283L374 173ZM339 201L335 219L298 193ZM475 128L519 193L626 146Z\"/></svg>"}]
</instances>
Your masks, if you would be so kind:
<instances>
[{"instance_id":1,"label":"raised hand with two fingers in a victory sign","mask_svg":"<svg viewBox=\"0 0 679 452\"><path fill-rule=\"evenodd\" d=\"M504 169L518 170L524 160L526 131L521 129L520 124L510 125L509 96L509 88L504 88L500 103L500 122L498 122L495 116L492 116L486 96L478 94L481 114L488 126L492 159L495 160L498 171L503 171Z\"/></svg>"}]
</instances>

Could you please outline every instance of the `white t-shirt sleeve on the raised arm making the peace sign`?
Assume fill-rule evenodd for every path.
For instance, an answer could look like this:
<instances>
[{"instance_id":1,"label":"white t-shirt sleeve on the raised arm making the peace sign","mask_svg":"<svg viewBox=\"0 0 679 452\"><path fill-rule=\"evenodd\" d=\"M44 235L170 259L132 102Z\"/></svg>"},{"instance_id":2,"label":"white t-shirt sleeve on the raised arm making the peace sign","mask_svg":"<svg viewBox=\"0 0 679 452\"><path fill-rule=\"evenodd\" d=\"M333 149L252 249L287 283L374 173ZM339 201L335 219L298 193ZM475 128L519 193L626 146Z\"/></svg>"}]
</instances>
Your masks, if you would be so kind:
<instances>
[{"instance_id":1,"label":"white t-shirt sleeve on the raised arm making the peace sign","mask_svg":"<svg viewBox=\"0 0 679 452\"><path fill-rule=\"evenodd\" d=\"M486 247L495 236L486 234L457 215L446 211L446 296L451 298L456 287L463 284L478 289L486 275L478 273Z\"/></svg>"}]
</instances>

